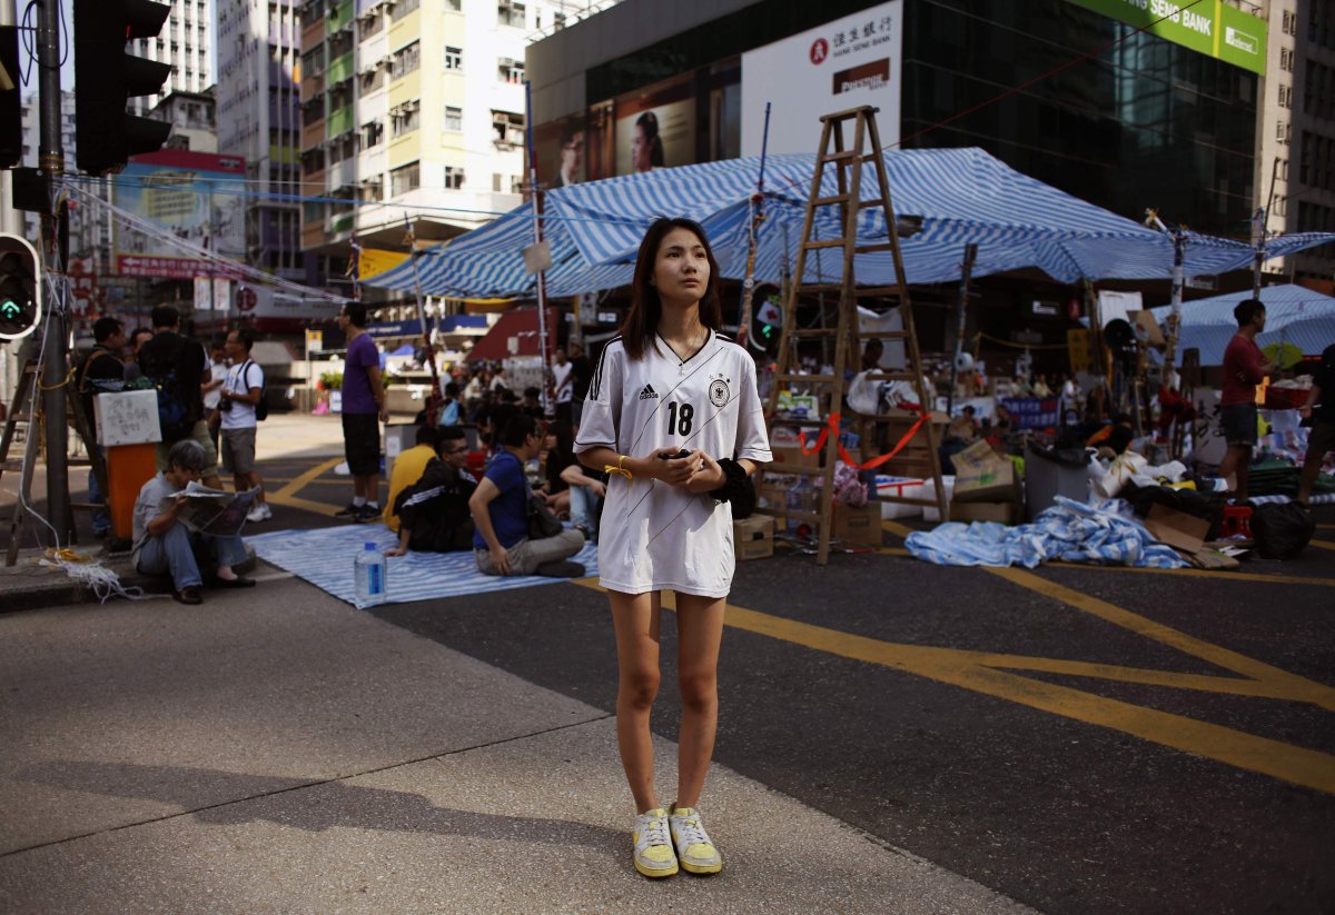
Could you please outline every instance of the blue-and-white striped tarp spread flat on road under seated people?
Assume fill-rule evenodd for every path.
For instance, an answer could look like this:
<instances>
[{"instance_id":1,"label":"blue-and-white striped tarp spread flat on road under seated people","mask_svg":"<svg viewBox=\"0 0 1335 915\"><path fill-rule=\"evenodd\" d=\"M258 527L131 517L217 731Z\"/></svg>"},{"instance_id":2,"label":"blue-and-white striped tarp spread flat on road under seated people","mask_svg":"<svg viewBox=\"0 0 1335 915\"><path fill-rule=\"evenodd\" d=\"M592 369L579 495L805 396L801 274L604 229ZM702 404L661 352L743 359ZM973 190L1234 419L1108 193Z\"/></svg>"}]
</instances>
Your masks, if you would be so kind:
<instances>
[{"instance_id":1,"label":"blue-and-white striped tarp spread flat on road under seated people","mask_svg":"<svg viewBox=\"0 0 1335 915\"><path fill-rule=\"evenodd\" d=\"M318 531L274 531L246 538L255 555L267 563L306 579L322 591L355 606L352 560L367 543L390 550L398 543L380 526L327 527ZM589 575L598 575L598 547L585 544L573 562L582 563ZM538 575L483 575L473 552L410 552L388 559L388 598L386 603L461 598L470 594L529 588L563 579Z\"/></svg>"}]
</instances>

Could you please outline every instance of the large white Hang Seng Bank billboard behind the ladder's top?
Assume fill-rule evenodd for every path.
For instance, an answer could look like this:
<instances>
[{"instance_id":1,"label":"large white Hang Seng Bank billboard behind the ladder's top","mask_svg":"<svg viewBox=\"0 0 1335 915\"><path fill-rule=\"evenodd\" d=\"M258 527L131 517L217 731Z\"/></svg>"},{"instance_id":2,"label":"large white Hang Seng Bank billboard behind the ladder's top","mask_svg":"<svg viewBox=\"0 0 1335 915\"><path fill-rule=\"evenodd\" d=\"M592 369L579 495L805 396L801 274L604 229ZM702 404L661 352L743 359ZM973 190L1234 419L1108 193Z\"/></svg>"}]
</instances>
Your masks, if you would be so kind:
<instances>
[{"instance_id":1,"label":"large white Hang Seng Bank billboard behind the ladder's top","mask_svg":"<svg viewBox=\"0 0 1335 915\"><path fill-rule=\"evenodd\" d=\"M742 55L742 155L816 152L821 115L876 105L881 144L900 139L904 4L892 0ZM619 113L619 112L618 112Z\"/></svg>"}]
</instances>

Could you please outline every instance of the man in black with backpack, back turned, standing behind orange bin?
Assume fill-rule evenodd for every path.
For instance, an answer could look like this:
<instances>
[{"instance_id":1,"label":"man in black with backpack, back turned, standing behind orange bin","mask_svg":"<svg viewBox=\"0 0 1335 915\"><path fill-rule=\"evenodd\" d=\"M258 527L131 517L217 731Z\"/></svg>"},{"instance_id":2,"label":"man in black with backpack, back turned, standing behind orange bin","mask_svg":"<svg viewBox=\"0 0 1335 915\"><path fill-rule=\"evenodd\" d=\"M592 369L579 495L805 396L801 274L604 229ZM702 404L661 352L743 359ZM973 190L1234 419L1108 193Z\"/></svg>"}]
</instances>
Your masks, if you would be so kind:
<instances>
[{"instance_id":1,"label":"man in black with backpack, back turned, standing behind orange bin","mask_svg":"<svg viewBox=\"0 0 1335 915\"><path fill-rule=\"evenodd\" d=\"M218 451L204 420L204 379L210 376L208 353L198 340L180 335L180 312L172 305L152 311L154 339L139 348L139 367L158 391L158 470L167 470L167 453L178 441L194 439L204 449L200 482L222 488Z\"/></svg>"}]
</instances>

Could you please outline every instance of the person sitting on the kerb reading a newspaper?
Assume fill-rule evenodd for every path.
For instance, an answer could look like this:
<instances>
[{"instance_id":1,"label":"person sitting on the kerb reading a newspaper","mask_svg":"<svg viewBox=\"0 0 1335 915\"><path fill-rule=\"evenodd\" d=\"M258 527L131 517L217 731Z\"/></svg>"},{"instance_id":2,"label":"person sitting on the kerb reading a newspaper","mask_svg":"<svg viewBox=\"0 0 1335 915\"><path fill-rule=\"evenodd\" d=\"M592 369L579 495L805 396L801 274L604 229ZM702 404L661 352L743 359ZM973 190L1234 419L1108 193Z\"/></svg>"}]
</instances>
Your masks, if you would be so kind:
<instances>
[{"instance_id":1,"label":"person sitting on the kerb reading a newspaper","mask_svg":"<svg viewBox=\"0 0 1335 915\"><path fill-rule=\"evenodd\" d=\"M204 603L199 594L204 580L198 556L206 554L208 547L218 555L218 587L248 588L255 584L232 570L247 558L239 536L196 534L180 520L186 506L182 491L199 479L206 462L204 448L198 441L178 441L167 452L167 470L144 483L135 500L135 568L143 575L171 574L172 596L183 604ZM168 507L163 508L168 500Z\"/></svg>"}]
</instances>

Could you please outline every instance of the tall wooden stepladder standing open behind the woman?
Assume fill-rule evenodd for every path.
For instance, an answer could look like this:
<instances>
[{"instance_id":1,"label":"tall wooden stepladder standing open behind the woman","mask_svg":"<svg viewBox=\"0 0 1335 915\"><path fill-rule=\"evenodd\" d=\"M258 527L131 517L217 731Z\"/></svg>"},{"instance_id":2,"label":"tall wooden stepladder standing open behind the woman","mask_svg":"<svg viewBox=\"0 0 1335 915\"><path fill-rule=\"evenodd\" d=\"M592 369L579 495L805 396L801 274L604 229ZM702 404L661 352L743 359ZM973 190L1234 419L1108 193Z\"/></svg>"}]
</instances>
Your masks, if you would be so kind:
<instances>
[{"instance_id":1,"label":"tall wooden stepladder standing open behind the woman","mask_svg":"<svg viewBox=\"0 0 1335 915\"><path fill-rule=\"evenodd\" d=\"M900 447L913 439L925 439L925 448L917 448L917 464L914 476L930 479L936 486L933 499L912 496L882 498L881 502L900 502L918 506L936 506L941 518L948 518L945 488L941 484L941 463L937 452L937 440L933 423L930 421L932 392L926 389L922 377L922 357L918 351L917 333L913 325L913 309L909 303L909 291L904 279L904 260L900 255L900 239L894 209L890 205L890 184L886 175L885 159L881 153L880 133L876 129L877 108L864 105L821 117L821 144L816 155L816 173L812 176L812 188L806 199L806 215L802 221L802 237L797 249L797 267L793 273L793 283L789 288L788 300L784 308L784 329L778 341L777 369L773 376L773 385L766 404L766 421L769 423L770 440L774 439L776 427L792 427L810 429L821 420L812 417L790 416L780 413L780 397L784 392L814 393L821 411L821 417L828 424L824 435L822 467L813 467L808 463L774 462L764 467L766 475L790 475L805 478L808 483L816 484L820 480L820 507L816 511L804 510L801 506L790 508L786 502L770 504L760 508L769 515L774 515L780 522L805 522L810 524L817 536L817 563L824 566L829 562L830 528L834 510L834 464L840 459L838 424L832 417L840 415L850 419L864 431L877 423L900 423L909 431L905 432ZM845 147L844 129L852 127L852 143ZM862 196L864 165L872 165L874 181L874 195ZM828 167L833 172L828 171ZM829 179L833 177L833 189ZM813 237L816 235L817 213L822 207L838 207L840 235L836 237ZM858 216L865 209L880 209L885 213L886 239L858 240ZM840 283L804 284L806 275L808 256L821 249L837 251L842 255L842 272ZM854 275L854 257L857 255L873 252L890 252L894 261L894 284L881 287L858 287ZM817 257L820 255L817 253ZM833 325L826 320L825 309L821 308L820 327L800 328L797 324L797 304L801 296L810 293L837 292L838 313ZM857 307L862 299L890 299L901 316L901 329L860 332ZM909 381L917 392L920 413L909 411L892 411L892 415L877 415L876 417L856 415L844 404L844 395L848 389L845 368L857 368L861 353L861 340L868 339L897 339L904 341L905 365L896 371L876 371L866 377L873 381ZM809 375L800 371L798 348L804 341L817 341L824 347L833 344L833 373ZM870 436L865 436L866 440ZM892 447L896 443L892 443ZM920 443L921 444L921 443ZM808 449L804 448L808 453ZM820 451L817 448L817 451ZM924 452L925 453L921 453ZM886 467L896 459L886 462ZM896 468L898 470L898 468ZM761 480L761 492L766 494L765 479ZM873 494L874 498L874 494Z\"/></svg>"}]
</instances>

